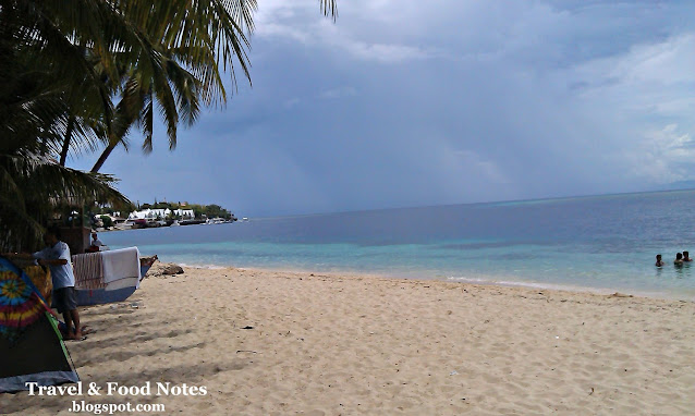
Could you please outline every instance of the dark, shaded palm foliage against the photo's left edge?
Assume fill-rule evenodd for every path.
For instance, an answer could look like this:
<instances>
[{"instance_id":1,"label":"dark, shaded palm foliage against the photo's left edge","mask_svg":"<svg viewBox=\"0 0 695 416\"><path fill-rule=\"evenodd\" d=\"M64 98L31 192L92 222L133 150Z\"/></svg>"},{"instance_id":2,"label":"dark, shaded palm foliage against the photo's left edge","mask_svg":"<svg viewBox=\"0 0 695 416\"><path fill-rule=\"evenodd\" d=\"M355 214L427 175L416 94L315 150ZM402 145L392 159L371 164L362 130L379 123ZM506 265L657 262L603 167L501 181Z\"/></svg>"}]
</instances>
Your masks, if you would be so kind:
<instances>
[{"instance_id":1,"label":"dark, shaded palm foliage against the photo's left edge","mask_svg":"<svg viewBox=\"0 0 695 416\"><path fill-rule=\"evenodd\" d=\"M113 178L80 172L54 160L69 130L82 135L73 142L80 146L94 140L98 132L83 129L82 123L69 127L69 113L93 120L94 114L110 111L108 89L94 71L95 57L85 52L87 41L81 39L86 37L64 19L69 13L63 4L0 0L2 250L36 248L42 224L65 204L129 203L112 186ZM85 15L98 22L105 12L99 2ZM65 37L62 32L73 35ZM95 50L103 45L98 36L88 44ZM57 64L65 60L71 65ZM108 66L108 60L100 61Z\"/></svg>"}]
</instances>

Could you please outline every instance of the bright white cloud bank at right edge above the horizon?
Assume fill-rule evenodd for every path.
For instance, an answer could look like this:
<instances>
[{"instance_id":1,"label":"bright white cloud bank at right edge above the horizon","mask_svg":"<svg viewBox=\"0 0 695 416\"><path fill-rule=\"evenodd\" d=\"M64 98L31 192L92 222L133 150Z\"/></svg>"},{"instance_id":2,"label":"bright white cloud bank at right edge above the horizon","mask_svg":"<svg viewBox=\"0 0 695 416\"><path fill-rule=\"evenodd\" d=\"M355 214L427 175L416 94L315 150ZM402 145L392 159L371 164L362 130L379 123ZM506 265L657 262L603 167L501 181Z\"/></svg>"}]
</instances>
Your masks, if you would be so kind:
<instances>
[{"instance_id":1,"label":"bright white cloud bank at right edge above the horizon","mask_svg":"<svg viewBox=\"0 0 695 416\"><path fill-rule=\"evenodd\" d=\"M634 45L624 53L556 73L601 142L594 150L623 182L695 178L695 34ZM580 87L573 87L578 85Z\"/></svg>"}]
</instances>

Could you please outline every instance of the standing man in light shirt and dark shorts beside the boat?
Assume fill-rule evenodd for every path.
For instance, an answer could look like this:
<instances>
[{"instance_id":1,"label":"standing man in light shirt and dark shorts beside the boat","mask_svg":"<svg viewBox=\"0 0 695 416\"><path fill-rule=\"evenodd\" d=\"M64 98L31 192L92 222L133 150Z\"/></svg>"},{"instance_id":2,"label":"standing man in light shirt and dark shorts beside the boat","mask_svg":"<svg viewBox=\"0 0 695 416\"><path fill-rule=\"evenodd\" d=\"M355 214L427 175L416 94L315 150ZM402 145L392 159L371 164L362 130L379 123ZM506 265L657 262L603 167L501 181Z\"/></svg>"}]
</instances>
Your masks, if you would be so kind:
<instances>
[{"instance_id":1,"label":"standing man in light shirt and dark shorts beside the boat","mask_svg":"<svg viewBox=\"0 0 695 416\"><path fill-rule=\"evenodd\" d=\"M53 305L59 314L63 314L68 327L68 340L80 340L80 314L77 313L77 295L75 293L75 276L70 262L70 247L61 242L58 229L49 229L44 234L46 248L34 253L41 266L48 266L53 280Z\"/></svg>"}]
</instances>

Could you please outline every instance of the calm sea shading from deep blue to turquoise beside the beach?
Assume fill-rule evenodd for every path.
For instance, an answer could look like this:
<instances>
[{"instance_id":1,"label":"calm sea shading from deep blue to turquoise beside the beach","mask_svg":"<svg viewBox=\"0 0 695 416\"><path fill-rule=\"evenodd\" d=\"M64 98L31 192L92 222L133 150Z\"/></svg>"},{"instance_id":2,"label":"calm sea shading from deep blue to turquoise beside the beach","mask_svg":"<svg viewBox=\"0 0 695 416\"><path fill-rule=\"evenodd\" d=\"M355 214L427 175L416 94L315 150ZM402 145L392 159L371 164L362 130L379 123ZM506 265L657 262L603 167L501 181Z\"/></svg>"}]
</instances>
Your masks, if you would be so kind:
<instances>
[{"instance_id":1,"label":"calm sea shading from deep blue to turquoise beside the beach","mask_svg":"<svg viewBox=\"0 0 695 416\"><path fill-rule=\"evenodd\" d=\"M102 233L162 261L695 299L695 191L403 208ZM656 268L655 255L667 266ZM694 261L695 264L695 261Z\"/></svg>"}]
</instances>

